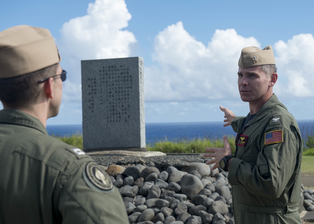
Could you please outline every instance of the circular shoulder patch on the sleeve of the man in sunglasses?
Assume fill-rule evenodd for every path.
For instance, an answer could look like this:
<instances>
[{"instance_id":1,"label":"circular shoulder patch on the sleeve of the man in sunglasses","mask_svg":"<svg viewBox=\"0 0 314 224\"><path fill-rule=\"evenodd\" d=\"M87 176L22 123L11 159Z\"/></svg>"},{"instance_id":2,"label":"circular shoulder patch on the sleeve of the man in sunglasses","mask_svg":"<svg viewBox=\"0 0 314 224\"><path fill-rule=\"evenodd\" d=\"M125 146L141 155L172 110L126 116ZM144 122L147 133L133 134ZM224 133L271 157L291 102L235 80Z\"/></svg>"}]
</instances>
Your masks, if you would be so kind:
<instances>
[{"instance_id":1,"label":"circular shoulder patch on the sleeve of the man in sunglasses","mask_svg":"<svg viewBox=\"0 0 314 224\"><path fill-rule=\"evenodd\" d=\"M113 188L113 183L109 174L104 168L102 168L95 162L87 163L84 174L87 177L85 182L87 183L87 185L89 185L89 187L93 188L93 186L96 186L101 190L111 190ZM88 183L87 181L90 181L90 183ZM92 184L93 186L91 186L90 184Z\"/></svg>"}]
</instances>

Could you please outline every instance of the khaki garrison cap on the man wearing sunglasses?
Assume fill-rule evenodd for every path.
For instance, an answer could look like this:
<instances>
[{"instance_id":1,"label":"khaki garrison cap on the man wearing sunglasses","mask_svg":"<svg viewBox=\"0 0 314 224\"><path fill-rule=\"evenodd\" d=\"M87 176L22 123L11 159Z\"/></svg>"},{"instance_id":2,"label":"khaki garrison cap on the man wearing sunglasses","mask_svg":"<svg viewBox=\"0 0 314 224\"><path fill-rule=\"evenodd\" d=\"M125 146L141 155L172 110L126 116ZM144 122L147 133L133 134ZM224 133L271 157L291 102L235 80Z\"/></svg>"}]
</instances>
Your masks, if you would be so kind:
<instances>
[{"instance_id":1,"label":"khaki garrison cap on the man wearing sunglasses","mask_svg":"<svg viewBox=\"0 0 314 224\"><path fill-rule=\"evenodd\" d=\"M0 78L35 72L60 61L48 29L20 25L0 32Z\"/></svg>"}]
</instances>

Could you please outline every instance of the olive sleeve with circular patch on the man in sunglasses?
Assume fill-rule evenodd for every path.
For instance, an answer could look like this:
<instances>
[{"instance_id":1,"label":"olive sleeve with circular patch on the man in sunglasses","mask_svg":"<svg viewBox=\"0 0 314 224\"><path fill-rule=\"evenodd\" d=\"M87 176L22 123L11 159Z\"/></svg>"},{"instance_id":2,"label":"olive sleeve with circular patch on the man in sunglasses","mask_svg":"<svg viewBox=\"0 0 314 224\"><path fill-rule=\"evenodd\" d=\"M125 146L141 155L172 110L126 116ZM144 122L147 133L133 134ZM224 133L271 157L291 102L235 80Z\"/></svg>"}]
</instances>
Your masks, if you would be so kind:
<instances>
[{"instance_id":1,"label":"olive sleeve with circular patch on the man in sunglasses","mask_svg":"<svg viewBox=\"0 0 314 224\"><path fill-rule=\"evenodd\" d=\"M69 166L60 179L62 223L129 223L122 197L101 166L79 160Z\"/></svg>"}]
</instances>

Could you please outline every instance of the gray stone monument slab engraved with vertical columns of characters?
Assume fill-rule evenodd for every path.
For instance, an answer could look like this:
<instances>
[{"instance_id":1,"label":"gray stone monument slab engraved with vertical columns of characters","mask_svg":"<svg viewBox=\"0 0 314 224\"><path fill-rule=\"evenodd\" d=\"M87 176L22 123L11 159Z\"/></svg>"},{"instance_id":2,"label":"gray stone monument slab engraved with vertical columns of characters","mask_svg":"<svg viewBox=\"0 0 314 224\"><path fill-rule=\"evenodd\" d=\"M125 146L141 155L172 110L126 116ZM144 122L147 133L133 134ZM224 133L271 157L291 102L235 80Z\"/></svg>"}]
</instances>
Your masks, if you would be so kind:
<instances>
[{"instance_id":1,"label":"gray stone monument slab engraved with vertical columns of characters","mask_svg":"<svg viewBox=\"0 0 314 224\"><path fill-rule=\"evenodd\" d=\"M84 151L145 148L143 58L81 61Z\"/></svg>"}]
</instances>

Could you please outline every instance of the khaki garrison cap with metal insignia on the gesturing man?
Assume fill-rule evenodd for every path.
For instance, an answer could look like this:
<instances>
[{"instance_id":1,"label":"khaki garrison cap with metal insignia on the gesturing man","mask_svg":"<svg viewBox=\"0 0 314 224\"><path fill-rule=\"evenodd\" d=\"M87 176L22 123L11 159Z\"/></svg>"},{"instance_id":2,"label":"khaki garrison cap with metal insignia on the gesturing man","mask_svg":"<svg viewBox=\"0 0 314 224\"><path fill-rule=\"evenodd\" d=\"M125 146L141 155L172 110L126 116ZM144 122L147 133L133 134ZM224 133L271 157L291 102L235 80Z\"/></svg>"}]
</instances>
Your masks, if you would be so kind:
<instances>
[{"instance_id":1,"label":"khaki garrison cap with metal insignia on the gesturing man","mask_svg":"<svg viewBox=\"0 0 314 224\"><path fill-rule=\"evenodd\" d=\"M257 47L243 48L238 65L241 68L250 68L259 65L276 65L272 46L268 45L263 50Z\"/></svg>"}]
</instances>

